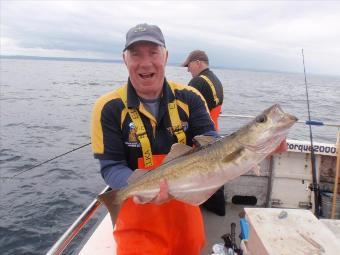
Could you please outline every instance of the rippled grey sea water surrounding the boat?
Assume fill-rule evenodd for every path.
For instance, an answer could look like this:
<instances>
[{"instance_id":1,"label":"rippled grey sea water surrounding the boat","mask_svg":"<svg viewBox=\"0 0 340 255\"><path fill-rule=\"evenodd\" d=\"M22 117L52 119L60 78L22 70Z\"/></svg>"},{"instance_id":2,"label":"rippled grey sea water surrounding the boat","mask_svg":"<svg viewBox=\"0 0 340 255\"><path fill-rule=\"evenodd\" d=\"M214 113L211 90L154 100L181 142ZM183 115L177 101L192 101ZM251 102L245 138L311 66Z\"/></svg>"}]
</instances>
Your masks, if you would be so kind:
<instances>
[{"instance_id":1,"label":"rippled grey sea water surrounding the boat","mask_svg":"<svg viewBox=\"0 0 340 255\"><path fill-rule=\"evenodd\" d=\"M279 103L307 120L303 73L213 70L224 87L223 114L256 115ZM11 177L89 143L95 100L128 74L119 63L1 59L0 75L0 177ZM183 84L191 78L176 66L168 66L166 76ZM307 72L307 82L312 119L339 124L340 77ZM223 118L221 133L247 121ZM336 132L313 127L314 141L334 143ZM296 124L288 138L308 140L308 126ZM0 254L46 253L104 187L90 146L1 179Z\"/></svg>"}]
</instances>

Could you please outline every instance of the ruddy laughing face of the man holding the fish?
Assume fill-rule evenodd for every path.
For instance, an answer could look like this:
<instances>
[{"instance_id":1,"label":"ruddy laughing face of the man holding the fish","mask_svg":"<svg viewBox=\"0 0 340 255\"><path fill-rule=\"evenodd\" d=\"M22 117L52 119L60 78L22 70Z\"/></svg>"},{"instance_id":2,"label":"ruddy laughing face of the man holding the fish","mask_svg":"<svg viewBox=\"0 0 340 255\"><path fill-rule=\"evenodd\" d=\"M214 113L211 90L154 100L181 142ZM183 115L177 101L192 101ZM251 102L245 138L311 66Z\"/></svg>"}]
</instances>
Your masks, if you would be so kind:
<instances>
[{"instance_id":1,"label":"ruddy laughing face of the man holding the fish","mask_svg":"<svg viewBox=\"0 0 340 255\"><path fill-rule=\"evenodd\" d=\"M168 59L166 49L155 43L138 42L124 52L123 58L138 96L145 99L159 97Z\"/></svg>"}]
</instances>

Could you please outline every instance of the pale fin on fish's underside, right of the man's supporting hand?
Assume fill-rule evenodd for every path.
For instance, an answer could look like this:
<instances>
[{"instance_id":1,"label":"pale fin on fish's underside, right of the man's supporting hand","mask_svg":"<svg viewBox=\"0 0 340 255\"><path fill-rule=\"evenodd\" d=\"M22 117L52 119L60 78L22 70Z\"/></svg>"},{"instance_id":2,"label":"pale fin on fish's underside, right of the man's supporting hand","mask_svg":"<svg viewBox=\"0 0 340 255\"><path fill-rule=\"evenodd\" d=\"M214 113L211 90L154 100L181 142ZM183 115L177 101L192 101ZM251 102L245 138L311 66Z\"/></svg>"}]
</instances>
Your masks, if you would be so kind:
<instances>
[{"instance_id":1,"label":"pale fin on fish's underside, right of the man's supporting hand","mask_svg":"<svg viewBox=\"0 0 340 255\"><path fill-rule=\"evenodd\" d=\"M176 200L185 202L191 205L200 205L207 201L218 189L218 187L213 187L211 189L205 189L204 191L196 192L184 192L180 194L171 194Z\"/></svg>"}]
</instances>

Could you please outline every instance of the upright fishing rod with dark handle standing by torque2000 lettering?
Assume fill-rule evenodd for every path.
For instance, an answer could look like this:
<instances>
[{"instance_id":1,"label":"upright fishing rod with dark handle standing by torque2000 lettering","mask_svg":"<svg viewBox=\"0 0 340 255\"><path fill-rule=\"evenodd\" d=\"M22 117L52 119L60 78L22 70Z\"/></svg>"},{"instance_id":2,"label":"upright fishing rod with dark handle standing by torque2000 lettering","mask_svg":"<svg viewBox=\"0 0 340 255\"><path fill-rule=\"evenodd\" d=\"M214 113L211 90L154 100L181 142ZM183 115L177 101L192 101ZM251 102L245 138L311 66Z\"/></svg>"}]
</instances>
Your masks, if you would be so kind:
<instances>
[{"instance_id":1,"label":"upright fishing rod with dark handle standing by torque2000 lettering","mask_svg":"<svg viewBox=\"0 0 340 255\"><path fill-rule=\"evenodd\" d=\"M313 133L312 133L312 125L311 125L311 117L310 117L310 106L309 106L309 95L308 95L308 86L307 86L307 76L306 76L306 67L305 67L305 56L302 52L302 63L303 63L303 73L305 76L305 87L306 87L306 97L307 97L307 110L308 110L308 121L309 121L309 139L311 145L311 165L312 165L312 177L313 183L309 185L309 189L314 192L314 214L317 218L320 217L320 187L317 180L317 172L315 167L315 154L314 154L314 146L313 146Z\"/></svg>"}]
</instances>

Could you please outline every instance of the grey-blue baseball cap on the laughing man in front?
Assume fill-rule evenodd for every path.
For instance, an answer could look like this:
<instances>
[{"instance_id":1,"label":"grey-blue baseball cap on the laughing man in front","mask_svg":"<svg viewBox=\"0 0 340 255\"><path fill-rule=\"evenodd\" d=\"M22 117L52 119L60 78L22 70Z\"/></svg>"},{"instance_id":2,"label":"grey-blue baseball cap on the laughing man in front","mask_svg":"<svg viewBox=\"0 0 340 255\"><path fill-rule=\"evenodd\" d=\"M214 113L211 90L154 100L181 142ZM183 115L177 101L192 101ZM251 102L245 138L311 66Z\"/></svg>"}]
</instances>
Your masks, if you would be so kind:
<instances>
[{"instance_id":1,"label":"grey-blue baseball cap on the laughing man in front","mask_svg":"<svg viewBox=\"0 0 340 255\"><path fill-rule=\"evenodd\" d=\"M123 51L126 51L132 44L141 41L152 42L165 48L164 36L161 29L156 25L143 23L130 28L126 33L126 42Z\"/></svg>"}]
</instances>

